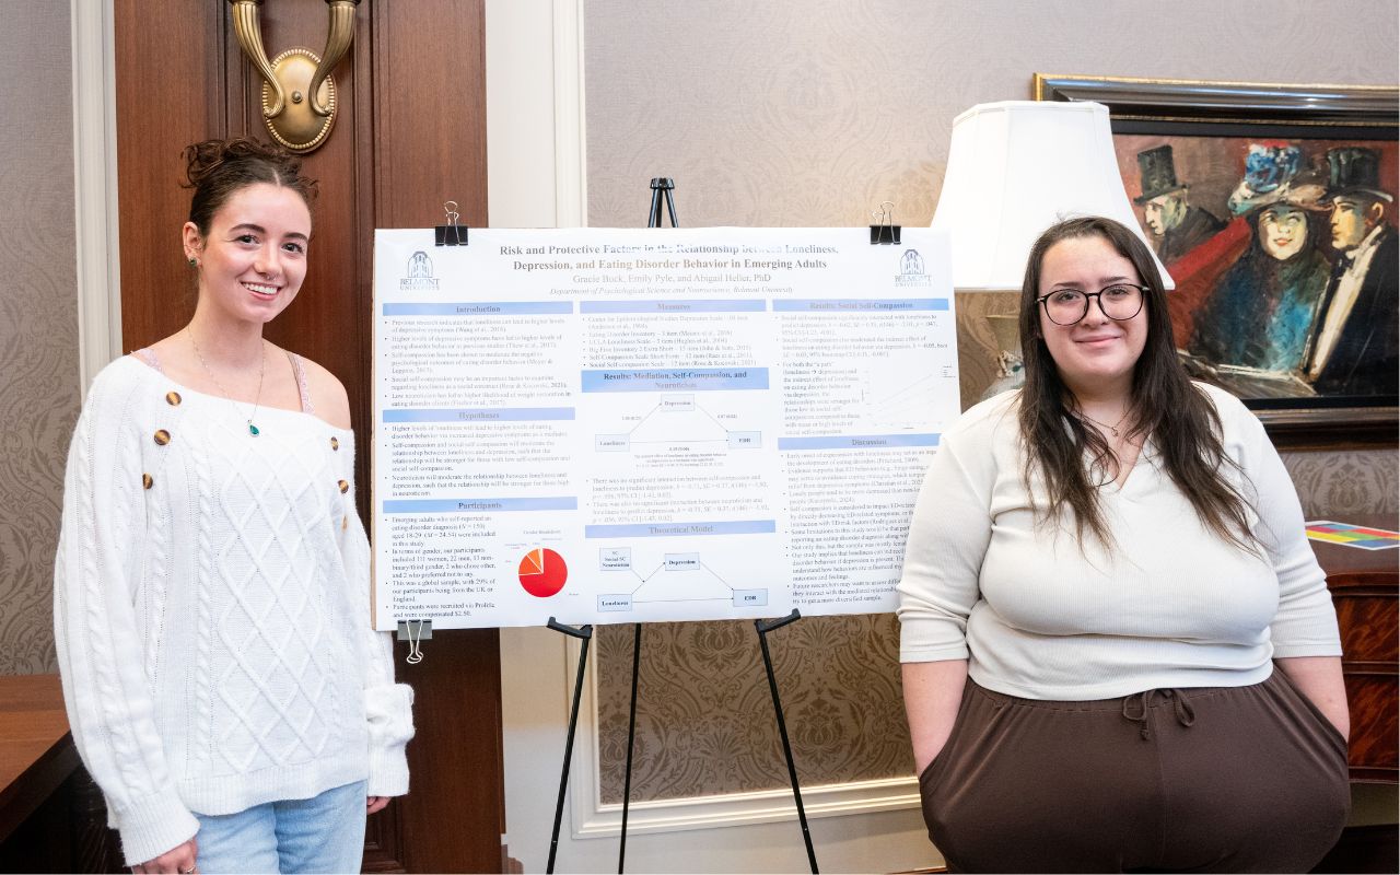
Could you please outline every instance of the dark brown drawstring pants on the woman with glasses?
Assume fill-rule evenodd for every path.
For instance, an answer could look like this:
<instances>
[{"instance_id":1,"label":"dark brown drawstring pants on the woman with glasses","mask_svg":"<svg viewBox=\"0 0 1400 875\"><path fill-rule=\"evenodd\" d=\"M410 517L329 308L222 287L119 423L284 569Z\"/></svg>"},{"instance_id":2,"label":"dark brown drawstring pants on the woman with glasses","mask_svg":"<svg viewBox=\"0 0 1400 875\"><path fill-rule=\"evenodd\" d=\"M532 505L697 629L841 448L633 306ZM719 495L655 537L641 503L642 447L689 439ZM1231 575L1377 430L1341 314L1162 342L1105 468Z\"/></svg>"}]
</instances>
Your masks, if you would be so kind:
<instances>
[{"instance_id":1,"label":"dark brown drawstring pants on the woman with glasses","mask_svg":"<svg viewBox=\"0 0 1400 875\"><path fill-rule=\"evenodd\" d=\"M969 679L918 787L955 872L1306 872L1351 806L1347 742L1281 671L1098 701Z\"/></svg>"}]
</instances>

